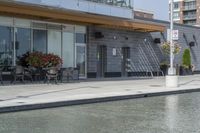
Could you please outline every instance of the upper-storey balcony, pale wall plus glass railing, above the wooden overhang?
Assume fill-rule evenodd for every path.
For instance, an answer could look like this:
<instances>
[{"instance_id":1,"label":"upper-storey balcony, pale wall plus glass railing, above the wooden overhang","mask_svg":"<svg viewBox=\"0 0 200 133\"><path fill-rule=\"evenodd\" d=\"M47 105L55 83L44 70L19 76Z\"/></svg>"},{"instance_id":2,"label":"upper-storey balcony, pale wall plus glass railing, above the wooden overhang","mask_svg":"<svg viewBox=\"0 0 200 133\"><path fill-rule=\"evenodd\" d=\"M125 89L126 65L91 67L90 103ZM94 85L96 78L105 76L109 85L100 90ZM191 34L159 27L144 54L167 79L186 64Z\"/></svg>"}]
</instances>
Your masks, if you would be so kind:
<instances>
[{"instance_id":1,"label":"upper-storey balcony, pale wall plus glass railing, above the wooden overhang","mask_svg":"<svg viewBox=\"0 0 200 133\"><path fill-rule=\"evenodd\" d=\"M92 14L133 18L130 0L12 0L14 2L74 10Z\"/></svg>"}]
</instances>

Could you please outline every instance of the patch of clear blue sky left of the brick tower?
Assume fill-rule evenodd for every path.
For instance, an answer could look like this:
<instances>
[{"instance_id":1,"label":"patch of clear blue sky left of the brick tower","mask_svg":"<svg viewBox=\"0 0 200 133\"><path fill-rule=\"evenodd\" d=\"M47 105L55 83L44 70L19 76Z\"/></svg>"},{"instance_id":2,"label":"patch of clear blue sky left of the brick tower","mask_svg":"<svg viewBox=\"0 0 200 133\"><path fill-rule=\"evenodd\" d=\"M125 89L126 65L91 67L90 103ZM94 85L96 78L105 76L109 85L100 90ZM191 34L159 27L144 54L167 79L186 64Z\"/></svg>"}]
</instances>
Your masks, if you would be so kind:
<instances>
[{"instance_id":1,"label":"patch of clear blue sky left of the brick tower","mask_svg":"<svg viewBox=\"0 0 200 133\"><path fill-rule=\"evenodd\" d=\"M155 19L169 20L169 0L134 0L135 9L152 11Z\"/></svg>"}]
</instances>

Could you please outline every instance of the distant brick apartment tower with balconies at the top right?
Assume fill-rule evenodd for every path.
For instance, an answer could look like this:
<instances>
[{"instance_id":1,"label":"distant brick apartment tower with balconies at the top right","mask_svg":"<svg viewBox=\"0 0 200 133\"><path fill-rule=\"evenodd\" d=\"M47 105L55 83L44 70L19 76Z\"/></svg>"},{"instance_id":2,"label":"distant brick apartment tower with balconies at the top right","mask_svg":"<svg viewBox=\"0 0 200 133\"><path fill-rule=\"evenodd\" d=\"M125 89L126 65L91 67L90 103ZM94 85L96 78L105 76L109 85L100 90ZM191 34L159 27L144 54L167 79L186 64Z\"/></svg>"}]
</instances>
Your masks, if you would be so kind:
<instances>
[{"instance_id":1,"label":"distant brick apartment tower with balconies at the top right","mask_svg":"<svg viewBox=\"0 0 200 133\"><path fill-rule=\"evenodd\" d=\"M200 25L199 0L175 0L174 22L187 25Z\"/></svg>"}]
</instances>

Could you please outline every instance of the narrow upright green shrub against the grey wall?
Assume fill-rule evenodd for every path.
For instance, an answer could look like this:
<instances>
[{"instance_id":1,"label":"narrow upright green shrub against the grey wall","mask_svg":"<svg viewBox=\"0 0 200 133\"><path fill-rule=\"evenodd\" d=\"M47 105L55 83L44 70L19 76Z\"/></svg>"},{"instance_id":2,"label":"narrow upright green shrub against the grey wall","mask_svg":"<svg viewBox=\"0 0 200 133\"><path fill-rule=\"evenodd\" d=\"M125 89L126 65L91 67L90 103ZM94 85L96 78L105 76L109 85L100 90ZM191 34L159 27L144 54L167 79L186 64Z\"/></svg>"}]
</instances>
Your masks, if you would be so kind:
<instances>
[{"instance_id":1,"label":"narrow upright green shrub against the grey wall","mask_svg":"<svg viewBox=\"0 0 200 133\"><path fill-rule=\"evenodd\" d=\"M183 58L182 58L182 65L184 68L189 69L191 67L191 55L190 55L190 50L185 49L183 53Z\"/></svg>"}]
</instances>

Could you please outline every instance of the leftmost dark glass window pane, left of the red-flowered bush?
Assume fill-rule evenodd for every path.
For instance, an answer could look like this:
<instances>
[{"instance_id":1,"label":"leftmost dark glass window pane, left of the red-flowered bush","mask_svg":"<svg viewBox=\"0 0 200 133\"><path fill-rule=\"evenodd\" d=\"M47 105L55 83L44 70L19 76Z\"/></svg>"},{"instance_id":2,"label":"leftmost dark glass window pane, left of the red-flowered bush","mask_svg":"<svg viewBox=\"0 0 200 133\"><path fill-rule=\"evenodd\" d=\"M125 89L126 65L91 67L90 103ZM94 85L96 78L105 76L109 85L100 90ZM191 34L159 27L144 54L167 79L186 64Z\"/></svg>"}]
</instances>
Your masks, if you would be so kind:
<instances>
[{"instance_id":1,"label":"leftmost dark glass window pane, left of the red-flowered bush","mask_svg":"<svg viewBox=\"0 0 200 133\"><path fill-rule=\"evenodd\" d=\"M0 65L13 65L13 28L0 26Z\"/></svg>"}]
</instances>

